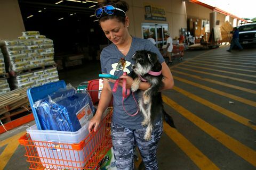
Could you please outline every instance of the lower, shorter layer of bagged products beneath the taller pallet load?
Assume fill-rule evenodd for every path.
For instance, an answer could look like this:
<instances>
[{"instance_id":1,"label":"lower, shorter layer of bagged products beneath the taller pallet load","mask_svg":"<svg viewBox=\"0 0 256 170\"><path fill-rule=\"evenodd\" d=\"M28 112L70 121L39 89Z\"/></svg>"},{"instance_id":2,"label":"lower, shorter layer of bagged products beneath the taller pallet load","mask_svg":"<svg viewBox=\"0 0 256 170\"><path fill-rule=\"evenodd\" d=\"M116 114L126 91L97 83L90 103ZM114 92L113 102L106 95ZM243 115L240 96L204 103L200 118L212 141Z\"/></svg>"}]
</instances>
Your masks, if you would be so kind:
<instances>
[{"instance_id":1,"label":"lower, shorter layer of bagged products beneath the taller pallet load","mask_svg":"<svg viewBox=\"0 0 256 170\"><path fill-rule=\"evenodd\" d=\"M45 83L55 81L59 81L57 67L20 74L11 79L14 89L23 87L37 87Z\"/></svg>"}]
</instances>

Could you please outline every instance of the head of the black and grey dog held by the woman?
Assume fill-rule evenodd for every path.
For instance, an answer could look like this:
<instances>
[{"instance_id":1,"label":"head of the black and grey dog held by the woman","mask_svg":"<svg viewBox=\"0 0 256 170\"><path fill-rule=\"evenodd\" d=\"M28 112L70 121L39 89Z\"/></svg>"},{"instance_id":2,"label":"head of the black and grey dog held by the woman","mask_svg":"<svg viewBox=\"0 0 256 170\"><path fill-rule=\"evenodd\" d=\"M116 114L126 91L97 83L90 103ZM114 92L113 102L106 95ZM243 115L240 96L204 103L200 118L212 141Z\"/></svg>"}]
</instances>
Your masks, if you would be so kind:
<instances>
[{"instance_id":1,"label":"head of the black and grey dog held by the woman","mask_svg":"<svg viewBox=\"0 0 256 170\"><path fill-rule=\"evenodd\" d=\"M158 59L153 52L139 50L133 55L132 60L135 61L135 64L132 65L132 70L138 75L144 75L152 69Z\"/></svg>"}]
</instances>

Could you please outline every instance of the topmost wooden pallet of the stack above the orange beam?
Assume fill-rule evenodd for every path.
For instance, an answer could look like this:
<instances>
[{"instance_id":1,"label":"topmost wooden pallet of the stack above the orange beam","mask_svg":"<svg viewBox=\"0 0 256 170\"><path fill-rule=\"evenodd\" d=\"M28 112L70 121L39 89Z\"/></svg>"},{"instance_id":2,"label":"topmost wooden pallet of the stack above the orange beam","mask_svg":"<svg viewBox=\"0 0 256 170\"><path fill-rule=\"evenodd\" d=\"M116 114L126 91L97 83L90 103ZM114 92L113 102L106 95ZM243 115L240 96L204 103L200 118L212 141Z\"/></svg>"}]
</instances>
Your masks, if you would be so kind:
<instances>
[{"instance_id":1,"label":"topmost wooden pallet of the stack above the orange beam","mask_svg":"<svg viewBox=\"0 0 256 170\"><path fill-rule=\"evenodd\" d=\"M0 116L26 104L29 104L26 88L12 90L0 95Z\"/></svg>"}]
</instances>

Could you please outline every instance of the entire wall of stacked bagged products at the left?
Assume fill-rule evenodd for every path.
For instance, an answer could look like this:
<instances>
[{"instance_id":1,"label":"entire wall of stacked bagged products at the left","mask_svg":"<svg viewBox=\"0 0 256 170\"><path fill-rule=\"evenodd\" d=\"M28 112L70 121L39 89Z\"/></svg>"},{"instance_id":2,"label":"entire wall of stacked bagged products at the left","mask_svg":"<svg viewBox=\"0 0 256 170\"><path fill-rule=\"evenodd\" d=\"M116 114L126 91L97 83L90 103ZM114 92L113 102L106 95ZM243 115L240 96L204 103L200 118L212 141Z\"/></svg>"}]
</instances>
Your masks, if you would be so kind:
<instances>
[{"instance_id":1,"label":"entire wall of stacked bagged products at the left","mask_svg":"<svg viewBox=\"0 0 256 170\"><path fill-rule=\"evenodd\" d=\"M0 75L10 74L9 86L7 78L0 79L0 94L10 88L36 87L59 80L53 41L39 31L22 32L16 40L2 40L0 47Z\"/></svg>"}]
</instances>

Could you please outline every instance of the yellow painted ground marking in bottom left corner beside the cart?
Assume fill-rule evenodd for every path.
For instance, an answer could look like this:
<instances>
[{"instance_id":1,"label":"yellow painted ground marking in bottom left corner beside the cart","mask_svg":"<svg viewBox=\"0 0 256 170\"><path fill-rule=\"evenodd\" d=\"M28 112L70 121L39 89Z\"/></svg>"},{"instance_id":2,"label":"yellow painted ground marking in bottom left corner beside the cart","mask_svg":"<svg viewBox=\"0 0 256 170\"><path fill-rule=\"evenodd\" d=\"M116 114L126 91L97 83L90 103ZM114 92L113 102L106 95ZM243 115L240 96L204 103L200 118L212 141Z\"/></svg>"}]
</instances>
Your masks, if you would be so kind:
<instances>
[{"instance_id":1,"label":"yellow painted ground marking in bottom left corner beside the cart","mask_svg":"<svg viewBox=\"0 0 256 170\"><path fill-rule=\"evenodd\" d=\"M6 164L9 162L13 153L15 152L15 150L18 148L18 146L20 144L18 139L25 133L26 132L24 131L24 132L14 135L11 138L0 141L0 147L3 147L4 145L8 144L4 148L4 151L2 152L2 154L0 155L0 160L1 160L0 169L4 169ZM19 167L17 167L17 169L19 169Z\"/></svg>"}]
</instances>

